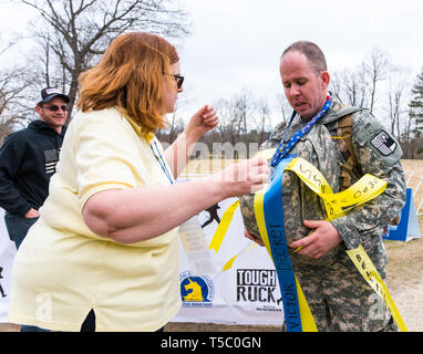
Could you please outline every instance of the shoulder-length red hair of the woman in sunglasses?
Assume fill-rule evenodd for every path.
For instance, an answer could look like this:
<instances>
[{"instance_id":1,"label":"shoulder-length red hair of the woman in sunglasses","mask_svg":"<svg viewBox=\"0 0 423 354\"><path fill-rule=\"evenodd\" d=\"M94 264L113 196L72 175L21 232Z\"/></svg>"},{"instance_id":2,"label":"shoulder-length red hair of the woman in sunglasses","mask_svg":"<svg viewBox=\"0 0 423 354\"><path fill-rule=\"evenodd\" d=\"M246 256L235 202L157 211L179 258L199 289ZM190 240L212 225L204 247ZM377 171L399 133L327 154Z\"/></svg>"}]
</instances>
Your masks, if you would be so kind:
<instances>
[{"instance_id":1,"label":"shoulder-length red hair of the woman in sunglasses","mask_svg":"<svg viewBox=\"0 0 423 354\"><path fill-rule=\"evenodd\" d=\"M115 106L144 133L165 128L164 83L176 83L164 73L178 61L175 48L158 35L145 32L122 34L112 42L96 66L80 75L76 106L82 112Z\"/></svg>"}]
</instances>

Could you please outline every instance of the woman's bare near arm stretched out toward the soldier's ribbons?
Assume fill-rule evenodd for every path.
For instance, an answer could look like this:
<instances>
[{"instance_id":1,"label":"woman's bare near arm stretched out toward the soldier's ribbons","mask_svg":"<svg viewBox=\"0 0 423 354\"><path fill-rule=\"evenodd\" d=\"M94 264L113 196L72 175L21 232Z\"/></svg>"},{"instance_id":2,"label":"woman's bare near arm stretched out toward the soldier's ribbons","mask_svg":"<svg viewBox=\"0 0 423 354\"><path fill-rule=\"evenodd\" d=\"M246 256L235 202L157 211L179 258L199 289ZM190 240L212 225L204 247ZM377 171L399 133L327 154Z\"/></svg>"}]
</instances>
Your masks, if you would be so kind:
<instances>
[{"instance_id":1,"label":"woman's bare near arm stretched out toward the soldier's ribbons","mask_svg":"<svg viewBox=\"0 0 423 354\"><path fill-rule=\"evenodd\" d=\"M255 158L194 181L97 192L85 202L82 216L94 233L121 243L144 241L219 200L259 190L268 176L267 162Z\"/></svg>"}]
</instances>

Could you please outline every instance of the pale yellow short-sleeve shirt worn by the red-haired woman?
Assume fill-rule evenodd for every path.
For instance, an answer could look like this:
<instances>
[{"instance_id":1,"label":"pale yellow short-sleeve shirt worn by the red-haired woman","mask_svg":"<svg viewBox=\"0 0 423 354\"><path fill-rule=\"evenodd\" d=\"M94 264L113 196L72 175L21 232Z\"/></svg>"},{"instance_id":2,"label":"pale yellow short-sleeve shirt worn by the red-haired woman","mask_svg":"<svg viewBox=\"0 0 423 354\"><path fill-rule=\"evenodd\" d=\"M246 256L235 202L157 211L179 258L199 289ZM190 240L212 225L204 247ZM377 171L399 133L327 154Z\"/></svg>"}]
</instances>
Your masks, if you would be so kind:
<instances>
[{"instance_id":1,"label":"pale yellow short-sleeve shirt worn by the red-haired woman","mask_svg":"<svg viewBox=\"0 0 423 354\"><path fill-rule=\"evenodd\" d=\"M115 108L74 117L40 219L16 257L10 322L80 331L93 309L96 331L156 331L177 313L177 229L121 244L93 233L81 215L99 191L169 185L161 156L158 140Z\"/></svg>"}]
</instances>

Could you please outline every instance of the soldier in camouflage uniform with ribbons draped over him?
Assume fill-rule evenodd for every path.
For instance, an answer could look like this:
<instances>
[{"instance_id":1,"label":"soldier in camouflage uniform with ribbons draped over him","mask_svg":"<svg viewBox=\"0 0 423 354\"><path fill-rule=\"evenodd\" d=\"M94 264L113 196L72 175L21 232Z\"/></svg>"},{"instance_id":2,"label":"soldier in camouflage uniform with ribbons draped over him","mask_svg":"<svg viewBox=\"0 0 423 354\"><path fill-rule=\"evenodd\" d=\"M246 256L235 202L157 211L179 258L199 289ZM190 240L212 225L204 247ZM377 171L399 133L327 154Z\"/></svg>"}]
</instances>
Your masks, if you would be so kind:
<instances>
[{"instance_id":1,"label":"soldier in camouflage uniform with ribbons draped over him","mask_svg":"<svg viewBox=\"0 0 423 354\"><path fill-rule=\"evenodd\" d=\"M329 74L320 49L297 42L281 56L280 74L287 98L297 112L285 143L323 106ZM291 153L314 165L333 192L345 188L338 147L337 127L345 105L332 97L329 111L301 138ZM319 331L395 331L388 308L365 282L345 250L362 244L382 279L388 263L382 235L405 202L402 150L382 124L365 110L352 114L352 148L360 173L351 171L351 184L371 174L388 181L378 198L332 221L326 218L320 198L291 171L282 178L287 243L296 275ZM287 126L279 124L260 149L276 148ZM246 236L262 244L254 215L254 195L240 198ZM288 220L288 222L287 222ZM297 253L293 250L303 247Z\"/></svg>"}]
</instances>

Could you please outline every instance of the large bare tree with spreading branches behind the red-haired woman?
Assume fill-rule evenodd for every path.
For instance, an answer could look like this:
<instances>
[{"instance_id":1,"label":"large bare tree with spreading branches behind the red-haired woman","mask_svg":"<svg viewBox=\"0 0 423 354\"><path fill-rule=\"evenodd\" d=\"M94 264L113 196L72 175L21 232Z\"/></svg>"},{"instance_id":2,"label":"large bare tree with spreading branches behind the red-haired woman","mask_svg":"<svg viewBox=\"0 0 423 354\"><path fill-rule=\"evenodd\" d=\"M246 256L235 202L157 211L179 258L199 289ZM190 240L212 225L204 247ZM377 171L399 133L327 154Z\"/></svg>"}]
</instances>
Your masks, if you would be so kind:
<instances>
[{"instance_id":1,"label":"large bare tree with spreading branches behind the red-haired woman","mask_svg":"<svg viewBox=\"0 0 423 354\"><path fill-rule=\"evenodd\" d=\"M33 30L45 54L45 84L68 92L70 117L79 75L96 63L114 38L128 30L169 38L188 34L185 12L175 9L169 0L21 1L34 8L47 23Z\"/></svg>"}]
</instances>

